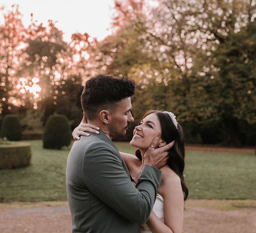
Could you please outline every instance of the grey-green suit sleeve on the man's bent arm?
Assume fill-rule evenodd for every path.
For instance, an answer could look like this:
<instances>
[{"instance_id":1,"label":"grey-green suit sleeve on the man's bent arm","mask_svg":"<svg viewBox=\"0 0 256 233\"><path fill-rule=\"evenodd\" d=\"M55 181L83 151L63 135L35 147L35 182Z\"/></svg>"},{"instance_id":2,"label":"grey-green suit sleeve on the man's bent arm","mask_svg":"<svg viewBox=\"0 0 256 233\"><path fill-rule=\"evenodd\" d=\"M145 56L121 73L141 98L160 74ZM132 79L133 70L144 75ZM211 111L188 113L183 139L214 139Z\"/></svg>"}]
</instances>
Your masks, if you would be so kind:
<instances>
[{"instance_id":1,"label":"grey-green suit sleeve on the man's bent arm","mask_svg":"<svg viewBox=\"0 0 256 233\"><path fill-rule=\"evenodd\" d=\"M122 166L120 154L100 142L89 145L83 158L86 187L120 215L139 224L149 218L161 175L160 170L145 165L135 187Z\"/></svg>"}]
</instances>

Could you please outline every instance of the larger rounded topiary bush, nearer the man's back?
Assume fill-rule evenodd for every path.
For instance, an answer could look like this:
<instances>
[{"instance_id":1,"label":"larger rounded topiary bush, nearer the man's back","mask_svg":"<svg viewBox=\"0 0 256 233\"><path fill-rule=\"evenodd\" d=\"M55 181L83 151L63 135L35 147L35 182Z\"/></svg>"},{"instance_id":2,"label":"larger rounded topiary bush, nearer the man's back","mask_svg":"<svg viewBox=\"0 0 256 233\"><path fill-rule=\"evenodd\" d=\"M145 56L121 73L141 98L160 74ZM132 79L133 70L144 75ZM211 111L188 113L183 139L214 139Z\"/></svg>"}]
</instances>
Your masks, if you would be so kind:
<instances>
[{"instance_id":1,"label":"larger rounded topiary bush, nearer the man's back","mask_svg":"<svg viewBox=\"0 0 256 233\"><path fill-rule=\"evenodd\" d=\"M68 146L71 141L71 130L68 118L64 115L49 116L43 134L43 147L47 149L60 149Z\"/></svg>"}]
</instances>

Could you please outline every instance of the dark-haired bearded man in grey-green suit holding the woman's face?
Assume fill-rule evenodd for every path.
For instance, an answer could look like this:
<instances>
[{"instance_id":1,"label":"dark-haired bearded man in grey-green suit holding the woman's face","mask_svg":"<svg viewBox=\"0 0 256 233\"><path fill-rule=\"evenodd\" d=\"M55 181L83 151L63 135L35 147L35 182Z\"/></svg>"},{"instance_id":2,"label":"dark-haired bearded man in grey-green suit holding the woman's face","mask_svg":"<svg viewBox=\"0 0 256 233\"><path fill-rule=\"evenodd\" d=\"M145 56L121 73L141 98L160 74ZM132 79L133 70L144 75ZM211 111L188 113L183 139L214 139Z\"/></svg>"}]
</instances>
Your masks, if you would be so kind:
<instances>
[{"instance_id":1,"label":"dark-haired bearded man in grey-green suit holding the woman's face","mask_svg":"<svg viewBox=\"0 0 256 233\"><path fill-rule=\"evenodd\" d=\"M161 182L161 168L172 145L144 157L136 187L114 143L125 135L131 115L134 83L126 78L98 75L86 82L81 102L88 123L99 126L99 134L81 136L67 160L66 185L72 232L139 233L152 211Z\"/></svg>"}]
</instances>

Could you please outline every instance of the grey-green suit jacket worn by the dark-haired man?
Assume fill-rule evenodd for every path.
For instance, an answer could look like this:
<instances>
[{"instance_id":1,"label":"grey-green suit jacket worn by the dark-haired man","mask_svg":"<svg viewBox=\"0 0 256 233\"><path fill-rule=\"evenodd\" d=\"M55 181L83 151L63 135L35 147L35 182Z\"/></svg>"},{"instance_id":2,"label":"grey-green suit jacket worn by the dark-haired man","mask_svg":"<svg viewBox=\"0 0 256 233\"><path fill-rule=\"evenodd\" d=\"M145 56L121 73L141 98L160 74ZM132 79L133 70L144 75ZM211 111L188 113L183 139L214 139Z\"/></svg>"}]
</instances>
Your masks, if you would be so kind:
<instances>
[{"instance_id":1,"label":"grey-green suit jacket worn by the dark-haired man","mask_svg":"<svg viewBox=\"0 0 256 233\"><path fill-rule=\"evenodd\" d=\"M105 133L81 136L70 150L66 169L72 232L140 232L152 211L161 174L145 165L135 187Z\"/></svg>"}]
</instances>

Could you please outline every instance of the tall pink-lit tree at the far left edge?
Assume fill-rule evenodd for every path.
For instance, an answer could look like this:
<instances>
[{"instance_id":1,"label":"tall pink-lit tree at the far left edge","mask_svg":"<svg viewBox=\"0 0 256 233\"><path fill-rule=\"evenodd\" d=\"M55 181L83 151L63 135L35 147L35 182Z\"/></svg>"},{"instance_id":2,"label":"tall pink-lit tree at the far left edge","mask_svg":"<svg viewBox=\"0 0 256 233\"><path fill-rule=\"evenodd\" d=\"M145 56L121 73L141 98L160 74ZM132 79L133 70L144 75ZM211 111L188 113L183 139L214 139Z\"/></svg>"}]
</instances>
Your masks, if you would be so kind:
<instances>
[{"instance_id":1,"label":"tall pink-lit tree at the far left edge","mask_svg":"<svg viewBox=\"0 0 256 233\"><path fill-rule=\"evenodd\" d=\"M12 105L20 104L15 98L16 74L27 58L24 53L27 44L18 6L12 5L11 11L2 7L1 11L4 23L0 25L0 115L3 116L10 112Z\"/></svg>"}]
</instances>

